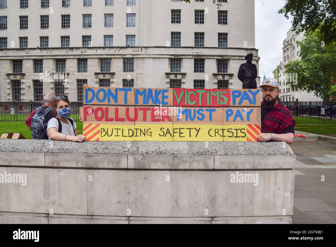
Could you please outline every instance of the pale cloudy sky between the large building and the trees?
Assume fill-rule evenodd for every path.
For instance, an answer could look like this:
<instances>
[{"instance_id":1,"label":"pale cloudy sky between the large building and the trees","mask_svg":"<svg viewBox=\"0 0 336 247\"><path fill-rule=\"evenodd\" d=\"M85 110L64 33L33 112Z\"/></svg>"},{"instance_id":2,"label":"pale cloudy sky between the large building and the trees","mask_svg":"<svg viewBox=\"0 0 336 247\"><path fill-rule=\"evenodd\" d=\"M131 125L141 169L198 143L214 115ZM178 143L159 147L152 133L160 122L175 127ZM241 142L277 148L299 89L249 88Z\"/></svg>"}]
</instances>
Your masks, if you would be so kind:
<instances>
[{"instance_id":1,"label":"pale cloudy sky between the large building and the trees","mask_svg":"<svg viewBox=\"0 0 336 247\"><path fill-rule=\"evenodd\" d=\"M283 0L255 0L255 45L259 49L260 82L264 74L270 77L282 61L282 42L291 28L291 20L277 13L284 3Z\"/></svg>"}]
</instances>

